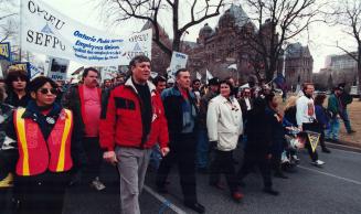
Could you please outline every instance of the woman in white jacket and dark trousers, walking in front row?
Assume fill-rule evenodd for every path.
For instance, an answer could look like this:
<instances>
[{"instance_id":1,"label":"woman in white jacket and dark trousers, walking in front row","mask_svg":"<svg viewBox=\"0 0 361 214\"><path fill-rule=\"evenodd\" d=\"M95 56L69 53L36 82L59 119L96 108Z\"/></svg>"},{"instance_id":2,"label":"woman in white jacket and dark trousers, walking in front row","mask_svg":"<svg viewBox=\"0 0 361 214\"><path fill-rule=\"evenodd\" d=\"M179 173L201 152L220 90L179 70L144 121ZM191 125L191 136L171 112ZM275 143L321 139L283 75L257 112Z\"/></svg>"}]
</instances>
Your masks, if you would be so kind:
<instances>
[{"instance_id":1,"label":"woman in white jacket and dark trousers, walking in front row","mask_svg":"<svg viewBox=\"0 0 361 214\"><path fill-rule=\"evenodd\" d=\"M231 197L240 202L243 194L238 191L235 176L233 150L243 132L242 110L234 98L230 82L220 82L220 95L211 99L206 113L206 128L214 148L214 159L210 165L210 185L221 188L220 175L225 174Z\"/></svg>"}]
</instances>

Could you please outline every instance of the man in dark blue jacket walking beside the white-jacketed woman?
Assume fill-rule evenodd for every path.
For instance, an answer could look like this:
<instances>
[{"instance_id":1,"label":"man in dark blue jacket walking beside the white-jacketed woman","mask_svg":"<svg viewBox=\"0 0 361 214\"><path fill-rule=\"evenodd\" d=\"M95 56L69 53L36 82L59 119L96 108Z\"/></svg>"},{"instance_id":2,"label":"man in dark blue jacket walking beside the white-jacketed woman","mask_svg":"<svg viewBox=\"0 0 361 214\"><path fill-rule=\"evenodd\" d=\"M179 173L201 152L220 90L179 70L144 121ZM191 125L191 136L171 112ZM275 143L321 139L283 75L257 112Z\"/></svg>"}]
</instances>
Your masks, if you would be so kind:
<instances>
[{"instance_id":1,"label":"man in dark blue jacket walking beside the white-jacketed woman","mask_svg":"<svg viewBox=\"0 0 361 214\"><path fill-rule=\"evenodd\" d=\"M195 130L198 109L195 96L190 90L190 73L182 68L176 73L177 85L161 94L170 138L170 153L159 165L157 174L158 192L164 193L167 176L173 163L178 163L180 183L184 195L184 205L204 213L203 205L198 203L195 191Z\"/></svg>"}]
</instances>

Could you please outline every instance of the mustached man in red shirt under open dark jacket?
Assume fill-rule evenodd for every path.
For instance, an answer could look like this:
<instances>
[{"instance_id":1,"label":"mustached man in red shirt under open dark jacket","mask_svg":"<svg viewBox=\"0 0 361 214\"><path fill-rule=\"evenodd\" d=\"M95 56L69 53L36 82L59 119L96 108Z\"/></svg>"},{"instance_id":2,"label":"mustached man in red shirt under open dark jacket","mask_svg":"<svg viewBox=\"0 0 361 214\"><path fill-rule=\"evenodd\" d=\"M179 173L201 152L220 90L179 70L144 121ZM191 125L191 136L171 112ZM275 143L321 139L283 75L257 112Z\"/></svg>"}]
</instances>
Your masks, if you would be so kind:
<instances>
[{"instance_id":1,"label":"mustached man in red shirt under open dark jacket","mask_svg":"<svg viewBox=\"0 0 361 214\"><path fill-rule=\"evenodd\" d=\"M83 72L83 83L72 86L63 96L63 106L74 113L74 121L81 127L81 138L86 152L86 168L75 169L71 184L84 183L100 191L105 185L99 180L102 151L99 146L99 121L102 111L102 88L98 87L99 72L87 67ZM104 96L104 95L103 95Z\"/></svg>"}]
</instances>

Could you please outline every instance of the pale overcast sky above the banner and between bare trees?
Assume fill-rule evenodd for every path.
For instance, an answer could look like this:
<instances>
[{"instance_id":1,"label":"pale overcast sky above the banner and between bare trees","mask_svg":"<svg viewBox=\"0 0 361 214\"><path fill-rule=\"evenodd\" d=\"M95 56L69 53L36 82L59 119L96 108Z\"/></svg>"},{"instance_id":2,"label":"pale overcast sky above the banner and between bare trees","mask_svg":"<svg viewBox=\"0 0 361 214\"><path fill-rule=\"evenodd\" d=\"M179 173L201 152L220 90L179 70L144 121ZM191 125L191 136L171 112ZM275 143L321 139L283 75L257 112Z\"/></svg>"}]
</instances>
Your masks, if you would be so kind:
<instances>
[{"instance_id":1,"label":"pale overcast sky above the banner and between bare trees","mask_svg":"<svg viewBox=\"0 0 361 214\"><path fill-rule=\"evenodd\" d=\"M106 25L105 20L102 19L100 7L98 2L102 0L43 0L50 4L55 10L59 10L61 13L93 28L103 31L110 31L120 35L130 34L131 32L139 31L142 26L142 23L139 21L132 21L128 23L123 23L119 25ZM340 0L341 1L341 0ZM240 1L234 1L240 2ZM224 11L224 10L223 10ZM160 19L160 24L162 24L169 34L171 34L171 18ZM213 29L217 24L217 18L205 21ZM204 25L204 23L199 24L198 26L192 28L189 31L189 34L184 36L184 40L195 41L198 38L199 30ZM325 57L330 54L342 53L339 49L335 47L337 41L339 44L351 49L352 44L355 44L352 38L344 36L340 28L330 28L326 24L318 23L310 31L310 40L306 35L298 39L297 41L301 42L304 45L309 45L310 52L314 56L314 72L318 72L325 65ZM354 45L353 45L354 46ZM351 50L352 51L352 50ZM72 63L71 69L77 67L78 64Z\"/></svg>"}]
</instances>

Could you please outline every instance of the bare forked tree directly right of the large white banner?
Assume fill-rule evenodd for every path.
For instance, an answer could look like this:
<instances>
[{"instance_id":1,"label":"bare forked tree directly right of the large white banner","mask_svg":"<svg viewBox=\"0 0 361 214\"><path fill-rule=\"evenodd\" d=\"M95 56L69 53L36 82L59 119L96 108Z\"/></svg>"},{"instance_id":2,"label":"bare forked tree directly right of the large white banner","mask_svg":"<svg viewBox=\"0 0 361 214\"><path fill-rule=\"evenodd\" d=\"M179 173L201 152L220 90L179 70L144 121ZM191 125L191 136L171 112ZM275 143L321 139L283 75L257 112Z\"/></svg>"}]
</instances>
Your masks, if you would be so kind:
<instances>
[{"instance_id":1,"label":"bare forked tree directly right of the large white banner","mask_svg":"<svg viewBox=\"0 0 361 214\"><path fill-rule=\"evenodd\" d=\"M129 19L150 22L155 31L153 42L170 58L172 51L180 51L182 35L190 28L219 15L221 8L225 4L225 0L103 0L103 3L106 7L104 11L117 22ZM188 15L181 15L185 12L189 12ZM116 17L114 17L115 13ZM173 34L171 46L161 41L160 36L162 29L159 20L160 15L164 13L171 15ZM187 17L189 17L189 20L183 23Z\"/></svg>"}]
</instances>

